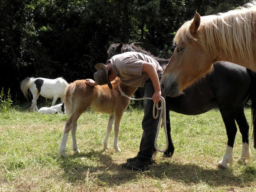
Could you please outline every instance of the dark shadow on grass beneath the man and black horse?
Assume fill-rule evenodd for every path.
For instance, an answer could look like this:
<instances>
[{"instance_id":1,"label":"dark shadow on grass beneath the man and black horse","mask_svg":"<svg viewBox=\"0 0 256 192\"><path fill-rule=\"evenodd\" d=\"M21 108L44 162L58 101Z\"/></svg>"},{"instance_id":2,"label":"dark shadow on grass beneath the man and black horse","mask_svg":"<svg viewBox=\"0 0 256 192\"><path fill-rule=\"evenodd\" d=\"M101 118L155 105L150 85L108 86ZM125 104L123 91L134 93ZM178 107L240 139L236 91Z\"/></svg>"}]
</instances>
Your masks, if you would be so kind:
<instances>
[{"instance_id":1,"label":"dark shadow on grass beneath the man and black horse","mask_svg":"<svg viewBox=\"0 0 256 192\"><path fill-rule=\"evenodd\" d=\"M236 176L233 169L205 168L195 164L183 164L170 160L156 162L146 172L122 169L121 164L114 163L111 155L105 151L89 151L58 159L64 170L63 179L71 183L91 180L98 185L118 186L139 177L157 180L181 182L188 186L195 183L206 183L209 186L244 186L250 185L256 178L254 167L244 167Z\"/></svg>"}]
</instances>

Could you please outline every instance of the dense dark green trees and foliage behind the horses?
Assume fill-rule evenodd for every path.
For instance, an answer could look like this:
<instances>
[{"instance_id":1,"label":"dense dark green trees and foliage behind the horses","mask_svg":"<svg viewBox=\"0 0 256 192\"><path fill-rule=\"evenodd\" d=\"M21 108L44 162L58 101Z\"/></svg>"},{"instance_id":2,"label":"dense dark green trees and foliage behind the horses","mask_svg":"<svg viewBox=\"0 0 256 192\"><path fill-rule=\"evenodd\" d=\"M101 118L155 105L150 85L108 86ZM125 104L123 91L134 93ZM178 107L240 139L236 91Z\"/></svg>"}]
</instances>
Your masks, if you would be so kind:
<instances>
[{"instance_id":1,"label":"dense dark green trees and foliage behind the horses","mask_svg":"<svg viewBox=\"0 0 256 192\"><path fill-rule=\"evenodd\" d=\"M92 78L111 43L143 42L169 58L184 21L234 9L247 0L0 0L0 88L25 99L25 77Z\"/></svg>"}]
</instances>

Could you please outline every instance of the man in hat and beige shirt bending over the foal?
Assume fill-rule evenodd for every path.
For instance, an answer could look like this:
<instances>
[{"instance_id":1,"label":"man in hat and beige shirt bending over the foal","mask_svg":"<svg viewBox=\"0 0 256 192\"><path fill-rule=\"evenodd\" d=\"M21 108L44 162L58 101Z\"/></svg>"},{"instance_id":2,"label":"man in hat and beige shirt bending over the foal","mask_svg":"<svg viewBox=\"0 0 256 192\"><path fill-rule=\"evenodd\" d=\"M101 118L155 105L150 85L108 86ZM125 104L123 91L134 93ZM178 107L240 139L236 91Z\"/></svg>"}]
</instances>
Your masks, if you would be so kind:
<instances>
[{"instance_id":1,"label":"man in hat and beige shirt bending over the foal","mask_svg":"<svg viewBox=\"0 0 256 192\"><path fill-rule=\"evenodd\" d=\"M125 169L148 170L153 163L152 155L154 152L154 140L157 134L159 118L153 117L154 102L161 100L162 92L160 88L160 78L163 69L160 64L148 55L140 52L124 52L114 55L105 64L96 64L96 72L92 79L86 79L86 84L90 86L108 84L112 88L110 81L118 76L125 85L131 87L143 87L144 97L144 116L142 120L143 134L140 142L140 150L136 157L128 158L122 164ZM164 97L164 96L163 96Z\"/></svg>"}]
</instances>

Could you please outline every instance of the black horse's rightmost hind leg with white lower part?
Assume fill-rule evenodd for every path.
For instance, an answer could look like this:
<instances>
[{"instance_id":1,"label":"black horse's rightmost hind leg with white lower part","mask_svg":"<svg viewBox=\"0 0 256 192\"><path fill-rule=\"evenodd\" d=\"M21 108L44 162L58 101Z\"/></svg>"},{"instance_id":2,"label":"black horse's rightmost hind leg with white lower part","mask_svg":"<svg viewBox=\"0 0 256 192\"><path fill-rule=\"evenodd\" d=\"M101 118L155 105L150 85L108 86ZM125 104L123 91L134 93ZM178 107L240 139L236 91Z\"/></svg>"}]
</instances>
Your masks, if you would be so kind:
<instances>
[{"instance_id":1,"label":"black horse's rightmost hind leg with white lower part","mask_svg":"<svg viewBox=\"0 0 256 192\"><path fill-rule=\"evenodd\" d=\"M238 162L247 164L247 161L250 161L252 154L249 147L249 125L244 115L244 106L236 109L235 119L239 127L239 131L242 135L242 153Z\"/></svg>"}]
</instances>

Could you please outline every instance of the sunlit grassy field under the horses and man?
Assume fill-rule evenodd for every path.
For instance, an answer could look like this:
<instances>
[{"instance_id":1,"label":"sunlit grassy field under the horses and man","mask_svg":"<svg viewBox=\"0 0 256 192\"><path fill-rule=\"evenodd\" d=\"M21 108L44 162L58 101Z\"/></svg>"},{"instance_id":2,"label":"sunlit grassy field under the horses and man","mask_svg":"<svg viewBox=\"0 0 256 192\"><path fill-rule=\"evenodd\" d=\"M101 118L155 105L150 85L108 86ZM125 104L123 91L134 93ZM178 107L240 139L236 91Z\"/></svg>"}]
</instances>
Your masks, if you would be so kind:
<instances>
[{"instance_id":1,"label":"sunlit grassy field under the horses and man","mask_svg":"<svg viewBox=\"0 0 256 192\"><path fill-rule=\"evenodd\" d=\"M250 109L245 109L251 123ZM0 191L20 192L247 192L256 191L255 150L247 166L236 161L241 155L241 134L237 133L234 164L218 169L226 150L227 136L218 109L198 116L171 112L175 153L163 158L158 153L147 172L124 170L121 164L134 157L142 134L141 110L125 111L121 121L119 147L103 150L108 115L91 111L78 122L80 154L73 154L71 136L67 157L58 154L66 115L41 115L21 110L0 113ZM250 129L252 135L252 129ZM251 142L251 137L250 137ZM165 146L163 132L158 144Z\"/></svg>"}]
</instances>

